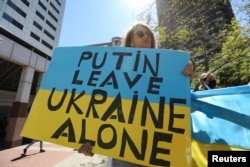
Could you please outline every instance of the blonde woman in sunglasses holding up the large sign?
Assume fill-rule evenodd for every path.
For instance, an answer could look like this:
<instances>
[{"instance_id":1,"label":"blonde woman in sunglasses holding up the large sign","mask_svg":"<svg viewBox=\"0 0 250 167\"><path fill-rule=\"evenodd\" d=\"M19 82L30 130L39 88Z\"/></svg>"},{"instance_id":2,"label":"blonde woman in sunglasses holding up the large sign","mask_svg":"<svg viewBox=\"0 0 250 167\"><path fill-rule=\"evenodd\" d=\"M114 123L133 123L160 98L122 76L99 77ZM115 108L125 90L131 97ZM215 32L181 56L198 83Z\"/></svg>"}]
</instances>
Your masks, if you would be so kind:
<instances>
[{"instance_id":1,"label":"blonde woman in sunglasses holding up the large sign","mask_svg":"<svg viewBox=\"0 0 250 167\"><path fill-rule=\"evenodd\" d=\"M132 26L127 32L124 38L124 47L134 47L134 48L157 48L156 39L153 31L147 24L142 22L138 22L134 26ZM190 76L192 79L194 77L193 65L189 63L182 74L185 76ZM82 153L86 156L93 156L92 153L92 145L91 143L82 144L78 149L79 153ZM112 167L141 167L142 165L113 159Z\"/></svg>"}]
</instances>

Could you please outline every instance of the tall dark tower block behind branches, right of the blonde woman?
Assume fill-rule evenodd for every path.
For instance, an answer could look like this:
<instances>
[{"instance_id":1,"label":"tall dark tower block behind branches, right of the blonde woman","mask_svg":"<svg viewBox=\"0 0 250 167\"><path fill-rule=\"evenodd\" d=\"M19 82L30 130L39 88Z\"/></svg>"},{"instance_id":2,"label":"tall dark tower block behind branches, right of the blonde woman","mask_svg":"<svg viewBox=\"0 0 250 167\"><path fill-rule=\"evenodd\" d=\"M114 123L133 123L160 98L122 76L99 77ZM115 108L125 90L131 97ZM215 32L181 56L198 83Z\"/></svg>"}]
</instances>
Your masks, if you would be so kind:
<instances>
[{"instance_id":1,"label":"tall dark tower block behind branches, right of the blonde woman","mask_svg":"<svg viewBox=\"0 0 250 167\"><path fill-rule=\"evenodd\" d=\"M204 54L195 55L195 59L203 63L206 56L209 58L221 49L218 33L234 18L229 0L156 0L156 7L159 25L166 27L167 35L174 36L185 26L193 30L189 33L194 35L189 36L185 48L202 46ZM168 38L162 45L182 49L173 38Z\"/></svg>"}]
</instances>

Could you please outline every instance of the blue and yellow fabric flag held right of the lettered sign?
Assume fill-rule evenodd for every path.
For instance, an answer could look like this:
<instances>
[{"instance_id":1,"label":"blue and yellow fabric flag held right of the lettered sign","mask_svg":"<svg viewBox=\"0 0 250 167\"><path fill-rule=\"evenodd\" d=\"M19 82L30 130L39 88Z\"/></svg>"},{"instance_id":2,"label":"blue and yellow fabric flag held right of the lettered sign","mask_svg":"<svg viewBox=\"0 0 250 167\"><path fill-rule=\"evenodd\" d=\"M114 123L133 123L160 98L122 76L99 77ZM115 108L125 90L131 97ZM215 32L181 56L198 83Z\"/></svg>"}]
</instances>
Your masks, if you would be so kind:
<instances>
[{"instance_id":1,"label":"blue and yellow fabric flag held right of the lettered sign","mask_svg":"<svg viewBox=\"0 0 250 167\"><path fill-rule=\"evenodd\" d=\"M250 85L191 92L193 167L208 151L250 150Z\"/></svg>"}]
</instances>

